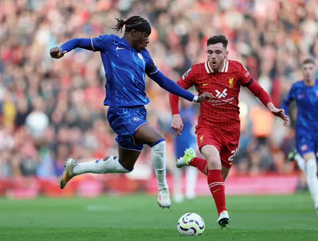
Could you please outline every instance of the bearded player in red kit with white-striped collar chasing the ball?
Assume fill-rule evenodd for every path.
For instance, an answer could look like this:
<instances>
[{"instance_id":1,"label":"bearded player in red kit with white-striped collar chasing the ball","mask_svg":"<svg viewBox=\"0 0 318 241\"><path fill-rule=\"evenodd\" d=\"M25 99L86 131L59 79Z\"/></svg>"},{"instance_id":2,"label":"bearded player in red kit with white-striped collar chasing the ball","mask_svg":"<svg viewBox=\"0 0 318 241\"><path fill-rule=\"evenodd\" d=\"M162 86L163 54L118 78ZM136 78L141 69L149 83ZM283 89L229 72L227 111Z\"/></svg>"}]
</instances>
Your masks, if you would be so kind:
<instances>
[{"instance_id":1,"label":"bearded player in red kit with white-striped collar chasing the ball","mask_svg":"<svg viewBox=\"0 0 318 241\"><path fill-rule=\"evenodd\" d=\"M288 117L283 109L276 108L268 93L254 80L248 70L237 61L227 60L228 40L219 35L208 39L207 58L204 63L193 65L177 83L184 89L195 86L199 94L213 94L211 100L200 104L196 126L197 143L205 159L197 158L192 148L176 162L181 168L197 167L208 176L208 185L217 206L221 228L228 228L230 219L225 206L224 181L234 161L240 133L239 90L247 87L274 115L285 122ZM169 94L173 120L171 127L180 135L183 123L179 114L179 97Z\"/></svg>"}]
</instances>

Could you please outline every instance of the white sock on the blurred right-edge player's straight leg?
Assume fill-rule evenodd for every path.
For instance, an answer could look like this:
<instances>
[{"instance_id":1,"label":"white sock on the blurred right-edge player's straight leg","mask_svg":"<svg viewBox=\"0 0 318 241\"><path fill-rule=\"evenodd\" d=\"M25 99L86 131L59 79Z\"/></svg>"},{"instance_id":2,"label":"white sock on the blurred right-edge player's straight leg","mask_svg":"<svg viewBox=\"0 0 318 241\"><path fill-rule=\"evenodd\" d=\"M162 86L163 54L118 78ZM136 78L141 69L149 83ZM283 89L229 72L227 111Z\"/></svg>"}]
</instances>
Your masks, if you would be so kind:
<instances>
[{"instance_id":1,"label":"white sock on the blurred right-edge player's straight leg","mask_svg":"<svg viewBox=\"0 0 318 241\"><path fill-rule=\"evenodd\" d=\"M317 162L309 160L306 162L306 177L307 184L312 198L315 203L315 208L318 207L318 177L317 177Z\"/></svg>"}]
</instances>

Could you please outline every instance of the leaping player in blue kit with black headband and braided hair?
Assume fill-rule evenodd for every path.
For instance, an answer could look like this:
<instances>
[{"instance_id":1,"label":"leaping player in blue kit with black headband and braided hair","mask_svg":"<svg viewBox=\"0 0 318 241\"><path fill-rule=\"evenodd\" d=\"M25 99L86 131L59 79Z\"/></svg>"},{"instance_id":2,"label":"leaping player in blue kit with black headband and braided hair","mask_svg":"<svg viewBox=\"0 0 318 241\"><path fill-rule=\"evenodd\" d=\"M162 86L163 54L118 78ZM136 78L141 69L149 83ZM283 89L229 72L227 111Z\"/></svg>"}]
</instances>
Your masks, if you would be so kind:
<instances>
[{"instance_id":1,"label":"leaping player in blue kit with black headband and braided hair","mask_svg":"<svg viewBox=\"0 0 318 241\"><path fill-rule=\"evenodd\" d=\"M146 47L149 43L151 26L140 17L133 16L126 21L117 19L114 29L122 31L117 35L100 35L94 38L75 38L50 50L52 58L59 59L76 48L100 52L106 73L107 120L117 134L118 157L108 156L101 160L77 163L66 161L60 179L63 189L68 181L83 173L126 173L131 172L143 145L152 149L152 163L158 181L158 204L162 208L171 205L165 172L165 140L162 134L148 124L145 105L150 100L146 94L145 74L167 91L189 101L202 102L211 99L210 93L195 96L184 90L173 80L165 77L155 66Z\"/></svg>"}]
</instances>

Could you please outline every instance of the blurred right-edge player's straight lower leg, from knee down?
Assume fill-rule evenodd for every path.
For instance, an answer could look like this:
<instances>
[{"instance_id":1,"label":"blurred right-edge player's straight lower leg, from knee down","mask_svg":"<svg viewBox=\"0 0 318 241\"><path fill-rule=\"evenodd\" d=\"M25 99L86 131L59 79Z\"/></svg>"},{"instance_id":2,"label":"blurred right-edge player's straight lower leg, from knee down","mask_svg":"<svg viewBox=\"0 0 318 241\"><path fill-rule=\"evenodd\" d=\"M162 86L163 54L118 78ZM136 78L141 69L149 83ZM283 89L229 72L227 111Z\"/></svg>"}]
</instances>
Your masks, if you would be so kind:
<instances>
[{"instance_id":1,"label":"blurred right-edge player's straight lower leg, from knee down","mask_svg":"<svg viewBox=\"0 0 318 241\"><path fill-rule=\"evenodd\" d=\"M309 191L314 200L315 208L318 213L318 177L317 177L317 161L314 152L306 153L303 158L306 161L306 178Z\"/></svg>"}]
</instances>

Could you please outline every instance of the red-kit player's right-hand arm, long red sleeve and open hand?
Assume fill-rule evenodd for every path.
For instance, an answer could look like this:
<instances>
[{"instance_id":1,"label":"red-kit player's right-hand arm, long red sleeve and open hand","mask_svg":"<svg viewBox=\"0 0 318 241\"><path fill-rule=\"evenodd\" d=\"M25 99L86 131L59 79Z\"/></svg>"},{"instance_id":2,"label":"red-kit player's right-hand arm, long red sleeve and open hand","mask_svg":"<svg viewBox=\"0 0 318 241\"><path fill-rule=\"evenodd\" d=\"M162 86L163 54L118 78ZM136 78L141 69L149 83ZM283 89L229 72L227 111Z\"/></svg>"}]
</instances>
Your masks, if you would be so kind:
<instances>
[{"instance_id":1,"label":"red-kit player's right-hand arm, long red sleeve and open hand","mask_svg":"<svg viewBox=\"0 0 318 241\"><path fill-rule=\"evenodd\" d=\"M285 123L288 122L288 117L285 115L284 109L278 109L272 103L269 94L259 85L256 80L250 79L247 88L272 112L273 115L280 117Z\"/></svg>"}]
</instances>

